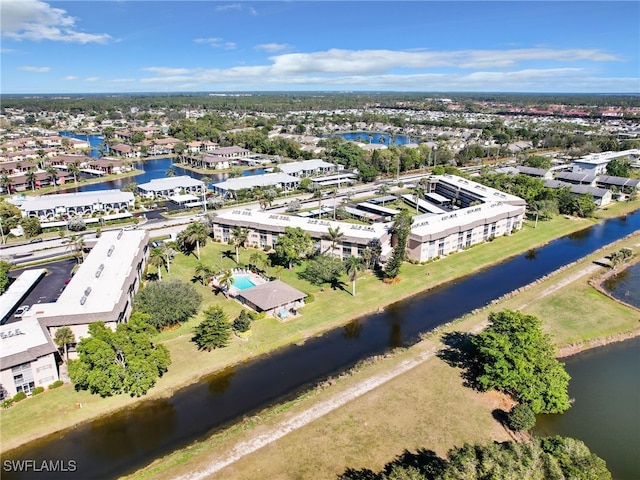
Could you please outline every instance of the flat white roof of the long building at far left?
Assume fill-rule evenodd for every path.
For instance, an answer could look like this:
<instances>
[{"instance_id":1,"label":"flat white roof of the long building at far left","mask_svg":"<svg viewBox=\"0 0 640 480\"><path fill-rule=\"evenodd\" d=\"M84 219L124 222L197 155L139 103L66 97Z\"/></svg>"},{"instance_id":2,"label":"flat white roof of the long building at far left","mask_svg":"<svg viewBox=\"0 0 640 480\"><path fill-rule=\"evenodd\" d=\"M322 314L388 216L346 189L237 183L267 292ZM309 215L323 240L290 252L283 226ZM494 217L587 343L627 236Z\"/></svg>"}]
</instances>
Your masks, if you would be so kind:
<instances>
[{"instance_id":1,"label":"flat white roof of the long building at far left","mask_svg":"<svg viewBox=\"0 0 640 480\"><path fill-rule=\"evenodd\" d=\"M39 318L111 312L145 238L145 230L104 232L58 301L38 304L32 311Z\"/></svg>"}]
</instances>

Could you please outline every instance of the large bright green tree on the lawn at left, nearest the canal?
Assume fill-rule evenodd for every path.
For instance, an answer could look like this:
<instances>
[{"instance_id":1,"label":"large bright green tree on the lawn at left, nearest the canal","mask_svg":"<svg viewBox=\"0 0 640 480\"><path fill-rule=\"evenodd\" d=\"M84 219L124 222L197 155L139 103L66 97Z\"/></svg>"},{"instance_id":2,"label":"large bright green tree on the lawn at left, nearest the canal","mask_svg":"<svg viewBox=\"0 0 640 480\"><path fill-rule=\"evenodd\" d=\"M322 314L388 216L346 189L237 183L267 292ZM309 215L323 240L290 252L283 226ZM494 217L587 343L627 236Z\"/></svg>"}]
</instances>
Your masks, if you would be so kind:
<instances>
[{"instance_id":1,"label":"large bright green tree on the lawn at left, nearest the canal","mask_svg":"<svg viewBox=\"0 0 640 480\"><path fill-rule=\"evenodd\" d=\"M90 324L90 336L78 343L78 359L69 362L75 389L101 397L145 395L171 364L167 348L151 342L154 329L148 320L148 315L136 312L115 331L104 322Z\"/></svg>"}]
</instances>

